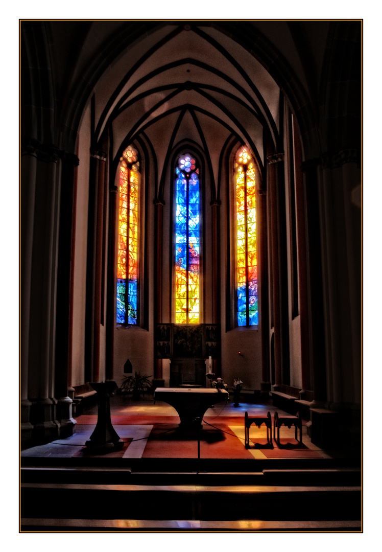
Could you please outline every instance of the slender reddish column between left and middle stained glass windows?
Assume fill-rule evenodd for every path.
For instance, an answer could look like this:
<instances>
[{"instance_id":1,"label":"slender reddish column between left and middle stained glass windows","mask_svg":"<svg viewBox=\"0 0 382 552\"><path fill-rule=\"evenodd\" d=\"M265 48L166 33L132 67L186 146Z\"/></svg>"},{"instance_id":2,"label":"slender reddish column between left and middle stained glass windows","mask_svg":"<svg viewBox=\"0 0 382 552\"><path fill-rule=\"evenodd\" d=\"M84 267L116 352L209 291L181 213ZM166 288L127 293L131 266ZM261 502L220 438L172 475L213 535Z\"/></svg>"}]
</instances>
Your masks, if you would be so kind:
<instances>
[{"instance_id":1,"label":"slender reddish column between left and middle stained glass windows","mask_svg":"<svg viewBox=\"0 0 382 552\"><path fill-rule=\"evenodd\" d=\"M164 201L154 200L154 228L156 231L156 243L154 253L154 325L155 328L159 322L162 322L162 240L163 240L163 207ZM155 341L154 341L155 343ZM154 344L154 387L163 387L162 359L157 358L157 351Z\"/></svg>"}]
</instances>

